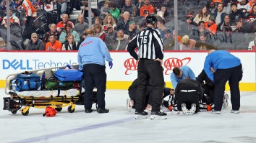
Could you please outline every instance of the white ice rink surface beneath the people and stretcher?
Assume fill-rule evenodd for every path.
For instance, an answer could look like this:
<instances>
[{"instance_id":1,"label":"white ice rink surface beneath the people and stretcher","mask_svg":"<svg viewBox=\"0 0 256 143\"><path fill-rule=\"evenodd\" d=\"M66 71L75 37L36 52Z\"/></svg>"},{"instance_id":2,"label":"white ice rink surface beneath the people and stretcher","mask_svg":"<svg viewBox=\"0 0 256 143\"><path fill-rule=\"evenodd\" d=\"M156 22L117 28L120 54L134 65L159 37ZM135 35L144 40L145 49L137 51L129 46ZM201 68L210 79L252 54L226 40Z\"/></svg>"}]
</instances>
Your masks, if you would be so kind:
<instances>
[{"instance_id":1,"label":"white ice rink surface beneath the people and stretcher","mask_svg":"<svg viewBox=\"0 0 256 143\"><path fill-rule=\"evenodd\" d=\"M2 108L2 98L9 96L4 89L0 93ZM256 142L256 92L241 93L240 114L230 113L229 96L229 106L220 115L168 112L166 120L135 120L134 111L126 109L127 98L127 91L107 90L108 114L85 114L83 106L72 114L64 107L55 117L42 116L44 109L30 108L27 116L1 110L0 142Z\"/></svg>"}]
</instances>

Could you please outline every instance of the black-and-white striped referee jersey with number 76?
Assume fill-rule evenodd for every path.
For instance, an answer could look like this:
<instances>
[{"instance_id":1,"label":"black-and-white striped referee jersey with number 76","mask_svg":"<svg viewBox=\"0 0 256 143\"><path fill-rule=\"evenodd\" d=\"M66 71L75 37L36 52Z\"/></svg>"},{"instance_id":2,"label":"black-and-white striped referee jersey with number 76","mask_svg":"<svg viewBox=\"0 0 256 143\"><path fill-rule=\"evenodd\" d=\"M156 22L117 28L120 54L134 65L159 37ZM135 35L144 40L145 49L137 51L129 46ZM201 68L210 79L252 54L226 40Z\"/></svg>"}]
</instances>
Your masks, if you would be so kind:
<instances>
[{"instance_id":1,"label":"black-and-white striped referee jersey with number 76","mask_svg":"<svg viewBox=\"0 0 256 143\"><path fill-rule=\"evenodd\" d=\"M135 48L138 47L138 55ZM146 27L129 42L127 51L136 60L163 60L163 40L158 29Z\"/></svg>"}]
</instances>

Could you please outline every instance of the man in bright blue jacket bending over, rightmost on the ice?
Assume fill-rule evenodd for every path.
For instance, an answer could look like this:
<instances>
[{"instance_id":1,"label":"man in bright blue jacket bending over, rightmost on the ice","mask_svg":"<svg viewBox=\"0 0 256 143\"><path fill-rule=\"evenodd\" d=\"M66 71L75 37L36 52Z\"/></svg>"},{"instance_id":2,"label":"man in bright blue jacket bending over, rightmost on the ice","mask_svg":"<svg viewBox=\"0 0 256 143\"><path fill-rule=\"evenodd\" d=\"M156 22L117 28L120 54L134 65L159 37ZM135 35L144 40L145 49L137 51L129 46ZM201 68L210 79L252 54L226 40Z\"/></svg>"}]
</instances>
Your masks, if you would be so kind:
<instances>
[{"instance_id":1,"label":"man in bright blue jacket bending over, rightmost on the ice","mask_svg":"<svg viewBox=\"0 0 256 143\"><path fill-rule=\"evenodd\" d=\"M226 82L229 80L231 92L231 113L239 114L240 91L239 81L242 80L242 64L238 57L226 50L210 50L205 58L205 73L214 81L213 101L215 108L213 114L221 114L223 95Z\"/></svg>"}]
</instances>

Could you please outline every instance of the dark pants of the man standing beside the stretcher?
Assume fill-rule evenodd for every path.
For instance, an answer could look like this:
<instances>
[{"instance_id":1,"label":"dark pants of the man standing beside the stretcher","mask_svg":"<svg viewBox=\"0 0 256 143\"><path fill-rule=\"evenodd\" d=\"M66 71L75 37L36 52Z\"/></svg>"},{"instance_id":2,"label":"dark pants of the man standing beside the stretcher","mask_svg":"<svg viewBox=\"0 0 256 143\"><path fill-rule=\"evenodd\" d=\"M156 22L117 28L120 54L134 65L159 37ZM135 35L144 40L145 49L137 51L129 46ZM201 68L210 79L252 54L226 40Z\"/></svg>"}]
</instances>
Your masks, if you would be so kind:
<instances>
[{"instance_id":1,"label":"dark pants of the man standing beside the stretcher","mask_svg":"<svg viewBox=\"0 0 256 143\"><path fill-rule=\"evenodd\" d=\"M97 103L99 109L105 109L106 67L98 64L83 65L85 80L85 109L92 109L93 88L97 88Z\"/></svg>"}]
</instances>

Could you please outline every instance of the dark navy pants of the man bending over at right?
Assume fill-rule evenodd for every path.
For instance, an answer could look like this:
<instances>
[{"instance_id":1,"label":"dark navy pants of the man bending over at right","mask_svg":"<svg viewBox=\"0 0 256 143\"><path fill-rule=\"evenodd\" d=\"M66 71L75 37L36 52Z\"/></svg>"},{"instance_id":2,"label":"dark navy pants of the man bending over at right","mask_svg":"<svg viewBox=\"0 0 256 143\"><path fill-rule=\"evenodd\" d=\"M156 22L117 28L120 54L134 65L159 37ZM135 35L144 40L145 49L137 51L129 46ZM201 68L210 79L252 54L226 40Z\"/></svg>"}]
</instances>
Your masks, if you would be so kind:
<instances>
[{"instance_id":1,"label":"dark navy pants of the man bending over at right","mask_svg":"<svg viewBox=\"0 0 256 143\"><path fill-rule=\"evenodd\" d=\"M221 111L223 104L223 95L225 91L226 82L229 80L231 103L233 110L240 109L240 91L239 81L242 80L242 65L234 68L218 69L213 74L214 77L214 109Z\"/></svg>"}]
</instances>

